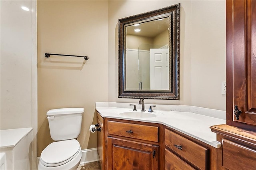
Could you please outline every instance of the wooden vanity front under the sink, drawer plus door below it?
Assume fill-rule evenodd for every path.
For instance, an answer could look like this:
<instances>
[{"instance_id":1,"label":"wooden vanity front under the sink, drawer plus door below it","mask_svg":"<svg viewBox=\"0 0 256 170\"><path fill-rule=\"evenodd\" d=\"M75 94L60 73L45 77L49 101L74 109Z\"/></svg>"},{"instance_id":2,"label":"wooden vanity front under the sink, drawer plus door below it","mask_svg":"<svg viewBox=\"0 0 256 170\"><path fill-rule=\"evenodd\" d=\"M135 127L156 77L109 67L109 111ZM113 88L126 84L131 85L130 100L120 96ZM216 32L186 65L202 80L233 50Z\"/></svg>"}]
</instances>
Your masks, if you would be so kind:
<instances>
[{"instance_id":1,"label":"wooden vanity front under the sink, drawer plus door below it","mask_svg":"<svg viewBox=\"0 0 256 170\"><path fill-rule=\"evenodd\" d=\"M159 169L158 124L107 119L107 169Z\"/></svg>"}]
</instances>

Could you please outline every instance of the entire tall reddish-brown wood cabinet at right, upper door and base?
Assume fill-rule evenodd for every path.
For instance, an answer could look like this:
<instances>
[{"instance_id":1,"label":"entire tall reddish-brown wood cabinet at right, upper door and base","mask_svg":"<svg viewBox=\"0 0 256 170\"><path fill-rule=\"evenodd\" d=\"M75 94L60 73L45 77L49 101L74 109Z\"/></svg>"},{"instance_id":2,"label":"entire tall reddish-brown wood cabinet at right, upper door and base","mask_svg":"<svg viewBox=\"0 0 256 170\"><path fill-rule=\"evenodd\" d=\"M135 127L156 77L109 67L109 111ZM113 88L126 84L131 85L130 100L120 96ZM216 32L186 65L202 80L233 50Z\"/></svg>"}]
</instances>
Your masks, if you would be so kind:
<instances>
[{"instance_id":1,"label":"entire tall reddish-brown wood cabinet at right, upper door and base","mask_svg":"<svg viewBox=\"0 0 256 170\"><path fill-rule=\"evenodd\" d=\"M210 127L222 143L221 169L256 167L256 1L226 0L226 125Z\"/></svg>"}]
</instances>

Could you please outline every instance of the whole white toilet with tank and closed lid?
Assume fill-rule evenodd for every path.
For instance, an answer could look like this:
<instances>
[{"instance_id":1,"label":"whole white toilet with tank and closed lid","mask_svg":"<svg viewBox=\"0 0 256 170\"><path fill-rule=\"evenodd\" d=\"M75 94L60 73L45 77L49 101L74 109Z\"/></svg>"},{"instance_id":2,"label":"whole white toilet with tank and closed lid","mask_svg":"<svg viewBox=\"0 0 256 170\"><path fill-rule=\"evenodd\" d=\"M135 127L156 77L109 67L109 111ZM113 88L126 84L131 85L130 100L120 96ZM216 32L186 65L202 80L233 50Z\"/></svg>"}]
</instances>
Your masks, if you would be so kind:
<instances>
[{"instance_id":1,"label":"whole white toilet with tank and closed lid","mask_svg":"<svg viewBox=\"0 0 256 170\"><path fill-rule=\"evenodd\" d=\"M41 153L38 170L76 170L82 150L76 140L84 108L52 109L47 112L52 142Z\"/></svg>"}]
</instances>

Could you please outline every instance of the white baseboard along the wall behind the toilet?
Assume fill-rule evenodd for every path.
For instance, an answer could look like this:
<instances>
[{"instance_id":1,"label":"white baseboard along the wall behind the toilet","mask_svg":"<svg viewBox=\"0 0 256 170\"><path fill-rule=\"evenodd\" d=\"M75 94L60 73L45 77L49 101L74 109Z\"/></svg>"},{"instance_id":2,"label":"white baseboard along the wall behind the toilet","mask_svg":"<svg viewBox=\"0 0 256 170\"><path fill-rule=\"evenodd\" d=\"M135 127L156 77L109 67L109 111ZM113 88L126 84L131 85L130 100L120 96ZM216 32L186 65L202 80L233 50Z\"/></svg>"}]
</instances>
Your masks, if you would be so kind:
<instances>
[{"instance_id":1,"label":"white baseboard along the wall behind the toilet","mask_svg":"<svg viewBox=\"0 0 256 170\"><path fill-rule=\"evenodd\" d=\"M39 163L40 157L37 157L37 165ZM82 158L80 164L86 164L90 162L96 162L100 160L97 152L97 148L84 149L82 150Z\"/></svg>"}]
</instances>

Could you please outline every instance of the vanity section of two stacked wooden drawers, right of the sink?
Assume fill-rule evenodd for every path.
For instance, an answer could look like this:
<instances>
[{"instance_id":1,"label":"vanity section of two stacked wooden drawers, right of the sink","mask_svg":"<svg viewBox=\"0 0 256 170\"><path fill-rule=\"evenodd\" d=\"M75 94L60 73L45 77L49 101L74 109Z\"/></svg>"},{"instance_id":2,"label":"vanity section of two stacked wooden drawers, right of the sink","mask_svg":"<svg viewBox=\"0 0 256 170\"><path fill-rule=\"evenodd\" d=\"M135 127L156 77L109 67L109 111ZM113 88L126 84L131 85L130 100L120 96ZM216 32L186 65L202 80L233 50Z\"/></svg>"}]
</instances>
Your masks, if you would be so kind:
<instances>
[{"instance_id":1,"label":"vanity section of two stacked wooden drawers, right of the sink","mask_svg":"<svg viewBox=\"0 0 256 170\"><path fill-rule=\"evenodd\" d=\"M176 132L165 129L165 169L201 169L210 167L210 149Z\"/></svg>"}]
</instances>

